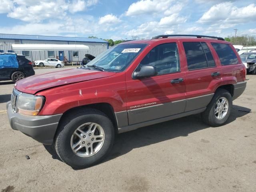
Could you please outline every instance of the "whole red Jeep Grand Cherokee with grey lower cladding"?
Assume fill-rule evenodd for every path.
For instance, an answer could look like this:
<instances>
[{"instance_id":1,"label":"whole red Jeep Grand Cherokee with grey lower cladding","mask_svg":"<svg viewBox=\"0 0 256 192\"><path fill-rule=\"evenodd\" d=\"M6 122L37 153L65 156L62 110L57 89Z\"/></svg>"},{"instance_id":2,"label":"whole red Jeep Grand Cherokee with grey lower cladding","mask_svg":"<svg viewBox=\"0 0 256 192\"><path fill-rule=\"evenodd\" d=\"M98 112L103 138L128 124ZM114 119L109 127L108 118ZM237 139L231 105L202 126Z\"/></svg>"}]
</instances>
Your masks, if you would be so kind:
<instances>
[{"instance_id":1,"label":"whole red Jeep Grand Cherokee with grey lower cladding","mask_svg":"<svg viewBox=\"0 0 256 192\"><path fill-rule=\"evenodd\" d=\"M108 154L116 133L197 113L223 125L245 78L223 38L161 35L113 46L82 68L18 81L8 117L14 130L85 168Z\"/></svg>"}]
</instances>

